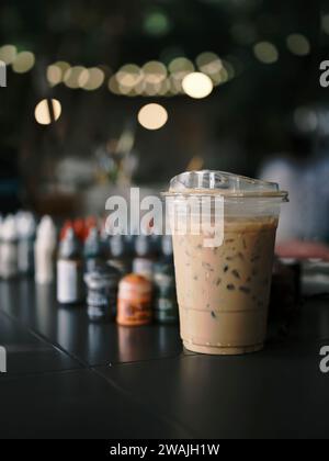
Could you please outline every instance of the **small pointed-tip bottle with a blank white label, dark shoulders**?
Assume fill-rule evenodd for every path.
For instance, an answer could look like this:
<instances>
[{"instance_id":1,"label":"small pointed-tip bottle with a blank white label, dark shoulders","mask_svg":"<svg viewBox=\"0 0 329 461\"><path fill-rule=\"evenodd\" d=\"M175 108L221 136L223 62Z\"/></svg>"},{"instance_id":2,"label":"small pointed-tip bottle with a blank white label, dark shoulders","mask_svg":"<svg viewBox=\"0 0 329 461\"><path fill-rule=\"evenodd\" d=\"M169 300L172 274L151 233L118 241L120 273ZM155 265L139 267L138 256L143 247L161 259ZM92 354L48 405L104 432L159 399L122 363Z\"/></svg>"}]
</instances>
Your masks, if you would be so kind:
<instances>
[{"instance_id":1,"label":"small pointed-tip bottle with a blank white label, dark shoulders","mask_svg":"<svg viewBox=\"0 0 329 461\"><path fill-rule=\"evenodd\" d=\"M60 243L57 259L57 301L80 304L84 299L83 260L81 245L69 228Z\"/></svg>"}]
</instances>

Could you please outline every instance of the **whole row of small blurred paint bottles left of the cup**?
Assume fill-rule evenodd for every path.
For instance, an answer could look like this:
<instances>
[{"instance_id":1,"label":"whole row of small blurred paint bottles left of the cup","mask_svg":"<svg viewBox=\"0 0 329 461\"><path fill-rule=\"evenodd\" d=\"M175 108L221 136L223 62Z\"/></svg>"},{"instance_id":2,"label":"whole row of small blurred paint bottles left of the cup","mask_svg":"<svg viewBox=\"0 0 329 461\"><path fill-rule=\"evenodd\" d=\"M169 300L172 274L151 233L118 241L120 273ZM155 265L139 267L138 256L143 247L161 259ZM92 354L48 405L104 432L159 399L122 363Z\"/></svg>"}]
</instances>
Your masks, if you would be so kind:
<instances>
[{"instance_id":1,"label":"whole row of small blurred paint bottles left of the cup","mask_svg":"<svg viewBox=\"0 0 329 461\"><path fill-rule=\"evenodd\" d=\"M0 221L0 278L32 274L38 284L57 279L60 304L87 299L92 321L116 317L120 324L139 325L151 317L178 319L170 237L110 237L90 217L66 222L58 245L49 216L37 225L32 213L8 215ZM147 308L152 315L145 315Z\"/></svg>"}]
</instances>

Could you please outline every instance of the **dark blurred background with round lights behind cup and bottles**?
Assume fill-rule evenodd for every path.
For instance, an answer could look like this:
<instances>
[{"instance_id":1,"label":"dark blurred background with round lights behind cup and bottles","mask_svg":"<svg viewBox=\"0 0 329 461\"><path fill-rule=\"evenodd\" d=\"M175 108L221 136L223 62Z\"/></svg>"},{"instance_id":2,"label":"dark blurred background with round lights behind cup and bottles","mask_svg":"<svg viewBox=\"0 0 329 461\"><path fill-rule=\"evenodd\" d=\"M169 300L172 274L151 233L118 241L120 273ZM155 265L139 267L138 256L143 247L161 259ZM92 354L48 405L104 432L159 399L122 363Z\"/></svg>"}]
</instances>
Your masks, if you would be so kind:
<instances>
[{"instance_id":1,"label":"dark blurred background with round lights behind cup and bottles","mask_svg":"<svg viewBox=\"0 0 329 461\"><path fill-rule=\"evenodd\" d=\"M3 1L0 212L101 214L209 168L280 181L281 239L325 243L328 56L328 2Z\"/></svg>"}]
</instances>

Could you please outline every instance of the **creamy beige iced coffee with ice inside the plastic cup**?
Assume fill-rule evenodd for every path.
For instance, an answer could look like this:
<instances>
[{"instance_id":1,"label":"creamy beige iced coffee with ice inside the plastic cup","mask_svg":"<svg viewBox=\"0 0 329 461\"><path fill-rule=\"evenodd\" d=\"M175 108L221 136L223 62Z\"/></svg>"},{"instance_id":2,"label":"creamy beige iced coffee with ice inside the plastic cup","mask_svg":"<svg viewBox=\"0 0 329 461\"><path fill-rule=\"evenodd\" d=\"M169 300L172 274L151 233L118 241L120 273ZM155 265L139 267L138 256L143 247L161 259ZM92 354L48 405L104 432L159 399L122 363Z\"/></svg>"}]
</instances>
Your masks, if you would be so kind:
<instances>
[{"instance_id":1,"label":"creamy beige iced coffee with ice inside the plastic cup","mask_svg":"<svg viewBox=\"0 0 329 461\"><path fill-rule=\"evenodd\" d=\"M181 337L186 349L243 353L262 348L277 220L231 221L220 247L173 236Z\"/></svg>"}]
</instances>

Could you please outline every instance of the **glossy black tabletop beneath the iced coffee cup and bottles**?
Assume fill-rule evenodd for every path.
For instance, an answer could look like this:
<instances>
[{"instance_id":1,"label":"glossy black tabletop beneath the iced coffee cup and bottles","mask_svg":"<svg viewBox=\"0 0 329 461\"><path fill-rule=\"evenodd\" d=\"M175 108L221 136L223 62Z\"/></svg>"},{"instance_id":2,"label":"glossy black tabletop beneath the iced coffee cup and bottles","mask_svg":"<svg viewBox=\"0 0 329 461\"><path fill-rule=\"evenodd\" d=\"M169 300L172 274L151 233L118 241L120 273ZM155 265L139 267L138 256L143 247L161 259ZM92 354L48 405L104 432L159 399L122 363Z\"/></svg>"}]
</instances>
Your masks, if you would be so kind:
<instances>
[{"instance_id":1,"label":"glossy black tabletop beneath the iced coffee cup and bottles","mask_svg":"<svg viewBox=\"0 0 329 461\"><path fill-rule=\"evenodd\" d=\"M0 282L0 438L327 438L329 304L237 357L183 350L177 326L92 324L54 286Z\"/></svg>"}]
</instances>

